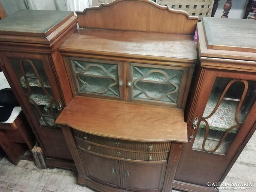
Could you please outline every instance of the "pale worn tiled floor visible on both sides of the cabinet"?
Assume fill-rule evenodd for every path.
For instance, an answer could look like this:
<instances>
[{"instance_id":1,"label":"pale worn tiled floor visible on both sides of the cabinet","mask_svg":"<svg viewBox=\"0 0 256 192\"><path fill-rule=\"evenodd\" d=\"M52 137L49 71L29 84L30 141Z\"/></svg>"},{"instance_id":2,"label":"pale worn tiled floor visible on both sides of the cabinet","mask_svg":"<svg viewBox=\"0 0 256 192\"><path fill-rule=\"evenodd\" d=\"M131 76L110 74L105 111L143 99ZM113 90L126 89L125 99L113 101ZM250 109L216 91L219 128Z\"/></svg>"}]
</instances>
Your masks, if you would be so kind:
<instances>
[{"instance_id":1,"label":"pale worn tiled floor visible on both sides of the cabinet","mask_svg":"<svg viewBox=\"0 0 256 192\"><path fill-rule=\"evenodd\" d=\"M256 187L256 133L228 173L224 182L251 182ZM94 192L77 184L77 172L63 169L40 170L32 161L21 160L14 166L4 157L0 161L0 192ZM220 190L224 191L224 190ZM173 190L174 192L174 190ZM176 191L175 191L176 192ZM231 192L231 190L228 190ZM237 192L237 191L236 191Z\"/></svg>"}]
</instances>

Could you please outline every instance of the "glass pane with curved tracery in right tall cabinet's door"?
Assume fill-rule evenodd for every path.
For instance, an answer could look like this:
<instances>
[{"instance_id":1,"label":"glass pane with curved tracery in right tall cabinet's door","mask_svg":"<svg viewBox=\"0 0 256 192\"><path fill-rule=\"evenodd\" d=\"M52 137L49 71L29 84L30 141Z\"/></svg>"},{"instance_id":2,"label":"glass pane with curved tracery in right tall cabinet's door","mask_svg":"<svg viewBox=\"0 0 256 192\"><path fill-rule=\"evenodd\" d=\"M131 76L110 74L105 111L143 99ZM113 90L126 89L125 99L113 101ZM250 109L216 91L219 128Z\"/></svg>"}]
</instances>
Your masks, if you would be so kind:
<instances>
[{"instance_id":1,"label":"glass pane with curved tracery in right tall cabinet's door","mask_svg":"<svg viewBox=\"0 0 256 192\"><path fill-rule=\"evenodd\" d=\"M193 149L225 155L256 97L256 82L217 77Z\"/></svg>"}]
</instances>

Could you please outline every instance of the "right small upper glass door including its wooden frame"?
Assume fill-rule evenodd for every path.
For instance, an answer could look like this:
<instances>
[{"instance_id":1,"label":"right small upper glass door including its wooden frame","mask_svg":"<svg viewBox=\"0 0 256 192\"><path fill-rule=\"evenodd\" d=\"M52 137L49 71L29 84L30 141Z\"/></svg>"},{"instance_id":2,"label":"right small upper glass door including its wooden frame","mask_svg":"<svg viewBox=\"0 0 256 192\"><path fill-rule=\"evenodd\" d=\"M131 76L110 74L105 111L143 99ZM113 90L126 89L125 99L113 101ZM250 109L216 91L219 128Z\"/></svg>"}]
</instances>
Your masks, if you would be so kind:
<instances>
[{"instance_id":1,"label":"right small upper glass door including its wooden frame","mask_svg":"<svg viewBox=\"0 0 256 192\"><path fill-rule=\"evenodd\" d=\"M138 63L128 63L127 68L129 101L181 107L188 77L186 68Z\"/></svg>"}]
</instances>

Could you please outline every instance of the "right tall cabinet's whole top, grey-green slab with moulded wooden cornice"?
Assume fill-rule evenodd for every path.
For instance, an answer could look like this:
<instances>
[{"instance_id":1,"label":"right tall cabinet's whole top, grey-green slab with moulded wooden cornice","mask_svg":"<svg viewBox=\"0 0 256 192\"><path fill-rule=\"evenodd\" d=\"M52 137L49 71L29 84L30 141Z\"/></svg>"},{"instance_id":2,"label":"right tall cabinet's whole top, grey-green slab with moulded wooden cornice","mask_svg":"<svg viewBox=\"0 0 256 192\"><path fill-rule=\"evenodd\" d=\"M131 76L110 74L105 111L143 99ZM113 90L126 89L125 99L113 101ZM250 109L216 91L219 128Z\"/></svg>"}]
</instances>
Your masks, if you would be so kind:
<instances>
[{"instance_id":1,"label":"right tall cabinet's whole top, grey-green slab with moulded wooden cornice","mask_svg":"<svg viewBox=\"0 0 256 192\"><path fill-rule=\"evenodd\" d=\"M200 60L209 68L255 72L255 29L253 20L204 17L197 24Z\"/></svg>"}]
</instances>

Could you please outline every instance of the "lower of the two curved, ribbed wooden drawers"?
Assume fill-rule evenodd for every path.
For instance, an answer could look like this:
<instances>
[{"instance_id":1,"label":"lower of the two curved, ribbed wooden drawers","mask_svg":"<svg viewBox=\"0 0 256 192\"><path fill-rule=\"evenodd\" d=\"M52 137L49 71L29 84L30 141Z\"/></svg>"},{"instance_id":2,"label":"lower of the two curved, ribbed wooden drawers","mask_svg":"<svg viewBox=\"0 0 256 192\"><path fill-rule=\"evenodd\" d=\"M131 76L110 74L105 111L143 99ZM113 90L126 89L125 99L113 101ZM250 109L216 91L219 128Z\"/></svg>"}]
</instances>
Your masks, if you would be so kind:
<instances>
[{"instance_id":1,"label":"lower of the two curved, ribbed wooden drawers","mask_svg":"<svg viewBox=\"0 0 256 192\"><path fill-rule=\"evenodd\" d=\"M164 153L143 153L143 152L131 152L123 151L112 148L100 147L91 143L84 142L81 139L76 139L76 144L79 150L91 151L105 156L130 159L137 161L164 161L168 158L168 152Z\"/></svg>"}]
</instances>

